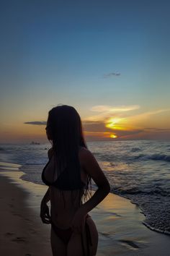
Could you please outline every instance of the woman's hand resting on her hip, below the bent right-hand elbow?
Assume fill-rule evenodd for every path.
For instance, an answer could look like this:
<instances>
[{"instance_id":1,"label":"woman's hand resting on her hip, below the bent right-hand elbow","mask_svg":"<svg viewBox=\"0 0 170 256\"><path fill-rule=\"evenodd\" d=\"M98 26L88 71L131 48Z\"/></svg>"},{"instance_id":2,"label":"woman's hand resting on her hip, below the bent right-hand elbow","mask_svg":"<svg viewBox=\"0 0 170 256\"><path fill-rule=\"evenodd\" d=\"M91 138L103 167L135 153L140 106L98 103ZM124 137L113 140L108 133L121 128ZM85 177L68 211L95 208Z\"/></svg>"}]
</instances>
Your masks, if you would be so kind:
<instances>
[{"instance_id":1,"label":"woman's hand resting on her hip, below the bent right-hand elbow","mask_svg":"<svg viewBox=\"0 0 170 256\"><path fill-rule=\"evenodd\" d=\"M80 210L77 210L71 224L71 229L76 233L84 231L86 216L84 216Z\"/></svg>"}]
</instances>

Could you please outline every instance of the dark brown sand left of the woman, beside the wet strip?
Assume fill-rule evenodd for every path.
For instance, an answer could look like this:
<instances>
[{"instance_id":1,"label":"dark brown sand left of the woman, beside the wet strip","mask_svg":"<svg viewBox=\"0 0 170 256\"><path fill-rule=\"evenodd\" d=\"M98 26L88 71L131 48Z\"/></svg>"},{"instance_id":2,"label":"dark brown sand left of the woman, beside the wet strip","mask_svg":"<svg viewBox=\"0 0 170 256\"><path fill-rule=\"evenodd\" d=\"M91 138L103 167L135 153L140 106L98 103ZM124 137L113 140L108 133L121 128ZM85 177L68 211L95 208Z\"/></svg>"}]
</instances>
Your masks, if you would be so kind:
<instances>
[{"instance_id":1,"label":"dark brown sand left of the woman, beside the wet strip","mask_svg":"<svg viewBox=\"0 0 170 256\"><path fill-rule=\"evenodd\" d=\"M9 174L0 174L1 255L52 256L50 227L41 225L35 205L28 203L31 193Z\"/></svg>"}]
</instances>

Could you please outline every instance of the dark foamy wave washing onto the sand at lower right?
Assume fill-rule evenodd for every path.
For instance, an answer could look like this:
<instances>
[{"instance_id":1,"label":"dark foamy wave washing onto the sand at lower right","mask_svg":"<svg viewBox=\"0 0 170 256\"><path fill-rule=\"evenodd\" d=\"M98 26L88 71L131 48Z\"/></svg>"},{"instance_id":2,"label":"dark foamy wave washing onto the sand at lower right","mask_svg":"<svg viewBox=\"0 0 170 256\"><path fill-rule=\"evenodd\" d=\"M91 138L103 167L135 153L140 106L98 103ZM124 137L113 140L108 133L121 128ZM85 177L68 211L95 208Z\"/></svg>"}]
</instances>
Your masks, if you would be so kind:
<instances>
[{"instance_id":1,"label":"dark foamy wave washing onto the sand at lower right","mask_svg":"<svg viewBox=\"0 0 170 256\"><path fill-rule=\"evenodd\" d=\"M161 188L156 187L150 191L142 191L137 187L120 191L112 189L112 192L122 197L128 198L130 202L137 205L141 213L145 216L143 224L153 231L170 235L169 213L170 191L160 191Z\"/></svg>"}]
</instances>

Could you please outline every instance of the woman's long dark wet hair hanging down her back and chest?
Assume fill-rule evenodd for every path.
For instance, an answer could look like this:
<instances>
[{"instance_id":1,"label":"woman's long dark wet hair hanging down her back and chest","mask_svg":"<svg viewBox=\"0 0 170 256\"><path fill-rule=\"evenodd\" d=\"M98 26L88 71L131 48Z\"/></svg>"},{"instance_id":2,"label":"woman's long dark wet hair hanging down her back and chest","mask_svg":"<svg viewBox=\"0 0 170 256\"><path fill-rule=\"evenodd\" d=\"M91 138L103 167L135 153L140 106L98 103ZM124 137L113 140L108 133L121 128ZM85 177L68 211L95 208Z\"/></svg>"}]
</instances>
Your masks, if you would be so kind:
<instances>
[{"instance_id":1,"label":"woman's long dark wet hair hanging down her back and chest","mask_svg":"<svg viewBox=\"0 0 170 256\"><path fill-rule=\"evenodd\" d=\"M71 166L80 173L79 148L87 148L81 124L81 118L72 106L59 105L48 113L46 132L48 140L52 140L60 171ZM71 175L71 179L74 179ZM73 181L72 181L73 182ZM84 198L91 194L91 176L88 175Z\"/></svg>"}]
</instances>

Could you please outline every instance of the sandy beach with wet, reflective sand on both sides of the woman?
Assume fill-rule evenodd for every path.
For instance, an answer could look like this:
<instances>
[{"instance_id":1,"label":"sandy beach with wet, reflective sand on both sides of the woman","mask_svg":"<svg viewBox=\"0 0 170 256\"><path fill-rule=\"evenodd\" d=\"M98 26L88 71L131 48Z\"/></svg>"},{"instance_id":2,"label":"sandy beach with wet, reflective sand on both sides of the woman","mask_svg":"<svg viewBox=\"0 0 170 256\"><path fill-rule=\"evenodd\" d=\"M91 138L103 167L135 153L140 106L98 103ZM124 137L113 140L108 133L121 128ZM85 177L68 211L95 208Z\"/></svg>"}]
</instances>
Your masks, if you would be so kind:
<instances>
[{"instance_id":1,"label":"sandy beach with wet, reflective sand on both sides of the woman","mask_svg":"<svg viewBox=\"0 0 170 256\"><path fill-rule=\"evenodd\" d=\"M47 187L20 179L15 166L1 167L1 255L52 256L50 225L40 220L40 200ZM97 256L169 256L170 236L143 225L137 205L109 195L91 211L99 231Z\"/></svg>"}]
</instances>

